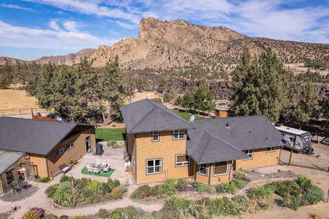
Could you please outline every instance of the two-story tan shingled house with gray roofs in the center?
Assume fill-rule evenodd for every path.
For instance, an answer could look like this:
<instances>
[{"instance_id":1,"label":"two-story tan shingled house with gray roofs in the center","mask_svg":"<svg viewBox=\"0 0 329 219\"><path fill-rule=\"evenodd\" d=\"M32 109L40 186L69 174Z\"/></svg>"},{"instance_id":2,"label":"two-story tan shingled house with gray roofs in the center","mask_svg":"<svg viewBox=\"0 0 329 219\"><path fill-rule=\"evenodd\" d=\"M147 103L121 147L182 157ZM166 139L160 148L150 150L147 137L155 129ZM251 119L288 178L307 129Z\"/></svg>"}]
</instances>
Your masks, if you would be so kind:
<instances>
[{"instance_id":1,"label":"two-story tan shingled house with gray roofs in the center","mask_svg":"<svg viewBox=\"0 0 329 219\"><path fill-rule=\"evenodd\" d=\"M230 181L234 170L278 164L280 132L266 116L188 122L149 99L123 105L134 183L193 178Z\"/></svg>"}]
</instances>

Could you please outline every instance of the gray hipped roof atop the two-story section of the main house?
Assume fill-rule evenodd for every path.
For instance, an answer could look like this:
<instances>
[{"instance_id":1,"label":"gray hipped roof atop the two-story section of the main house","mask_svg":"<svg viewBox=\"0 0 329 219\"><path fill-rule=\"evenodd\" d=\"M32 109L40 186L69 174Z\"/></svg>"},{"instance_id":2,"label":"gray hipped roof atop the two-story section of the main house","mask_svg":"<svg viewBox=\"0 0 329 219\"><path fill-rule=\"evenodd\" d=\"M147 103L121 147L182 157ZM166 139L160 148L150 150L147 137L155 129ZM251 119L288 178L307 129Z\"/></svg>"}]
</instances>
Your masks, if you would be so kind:
<instances>
[{"instance_id":1,"label":"gray hipped roof atop the two-story section of the main house","mask_svg":"<svg viewBox=\"0 0 329 219\"><path fill-rule=\"evenodd\" d=\"M164 105L143 99L120 107L128 133L195 129Z\"/></svg>"}]
</instances>

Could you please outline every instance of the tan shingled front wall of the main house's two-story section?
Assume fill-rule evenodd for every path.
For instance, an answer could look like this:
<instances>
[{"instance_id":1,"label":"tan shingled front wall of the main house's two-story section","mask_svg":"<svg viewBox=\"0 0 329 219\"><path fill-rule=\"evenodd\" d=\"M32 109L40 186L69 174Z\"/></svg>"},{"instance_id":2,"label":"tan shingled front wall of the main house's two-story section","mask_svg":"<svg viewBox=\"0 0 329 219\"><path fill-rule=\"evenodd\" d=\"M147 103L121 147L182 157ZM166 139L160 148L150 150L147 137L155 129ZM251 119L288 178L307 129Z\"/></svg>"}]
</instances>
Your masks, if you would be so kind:
<instances>
[{"instance_id":1,"label":"tan shingled front wall of the main house's two-story section","mask_svg":"<svg viewBox=\"0 0 329 219\"><path fill-rule=\"evenodd\" d=\"M160 131L160 141L152 142L151 133L136 134L136 183L165 181L171 178L187 178L188 166L175 166L175 155L186 154L184 140L173 140L172 131ZM153 175L146 173L147 159L162 159L162 172Z\"/></svg>"}]
</instances>

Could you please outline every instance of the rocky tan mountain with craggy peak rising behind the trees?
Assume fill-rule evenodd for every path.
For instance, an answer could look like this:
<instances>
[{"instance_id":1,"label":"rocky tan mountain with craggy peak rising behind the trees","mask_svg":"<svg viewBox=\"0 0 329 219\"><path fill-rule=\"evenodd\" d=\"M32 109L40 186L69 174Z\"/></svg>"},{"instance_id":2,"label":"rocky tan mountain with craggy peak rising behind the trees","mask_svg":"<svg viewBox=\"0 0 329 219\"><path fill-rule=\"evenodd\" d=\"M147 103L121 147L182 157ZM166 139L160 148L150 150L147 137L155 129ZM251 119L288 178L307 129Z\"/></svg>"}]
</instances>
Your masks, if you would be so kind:
<instances>
[{"instance_id":1,"label":"rocky tan mountain with craggy peak rising behind the trees","mask_svg":"<svg viewBox=\"0 0 329 219\"><path fill-rule=\"evenodd\" d=\"M121 66L127 69L189 66L228 69L236 64L244 47L252 54L272 47L286 64L308 59L329 62L329 44L250 38L226 27L204 27L183 20L156 18L141 20L138 38L120 40L112 47L102 45L69 55L41 57L36 62L74 65L86 55L95 60L95 66L104 66L108 59L118 55Z\"/></svg>"}]
</instances>

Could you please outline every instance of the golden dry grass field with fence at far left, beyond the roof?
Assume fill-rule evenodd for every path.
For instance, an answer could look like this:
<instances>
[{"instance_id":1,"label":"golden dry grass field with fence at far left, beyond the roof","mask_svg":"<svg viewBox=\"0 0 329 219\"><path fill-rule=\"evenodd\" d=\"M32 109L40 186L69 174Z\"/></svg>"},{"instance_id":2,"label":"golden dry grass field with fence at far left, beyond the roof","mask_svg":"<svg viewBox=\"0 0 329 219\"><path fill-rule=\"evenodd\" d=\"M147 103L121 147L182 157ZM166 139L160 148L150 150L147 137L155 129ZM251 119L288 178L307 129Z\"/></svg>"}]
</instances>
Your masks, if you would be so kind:
<instances>
[{"instance_id":1,"label":"golden dry grass field with fence at far left, beyond the roof","mask_svg":"<svg viewBox=\"0 0 329 219\"><path fill-rule=\"evenodd\" d=\"M19 109L38 108L36 98L29 96L25 90L0 89L0 113L20 114ZM21 110L21 114L29 114L31 110Z\"/></svg>"}]
</instances>

